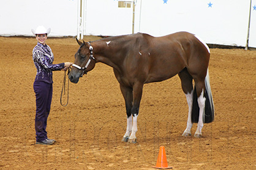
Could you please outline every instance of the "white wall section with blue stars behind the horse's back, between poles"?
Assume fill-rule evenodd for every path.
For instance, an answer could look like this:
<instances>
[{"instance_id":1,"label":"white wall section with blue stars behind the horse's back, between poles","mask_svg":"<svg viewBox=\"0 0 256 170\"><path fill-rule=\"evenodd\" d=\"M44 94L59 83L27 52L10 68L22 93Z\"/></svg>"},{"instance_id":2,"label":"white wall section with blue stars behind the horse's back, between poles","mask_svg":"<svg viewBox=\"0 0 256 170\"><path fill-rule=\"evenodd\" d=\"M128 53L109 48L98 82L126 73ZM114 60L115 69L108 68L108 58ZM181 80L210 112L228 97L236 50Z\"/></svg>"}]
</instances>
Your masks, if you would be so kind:
<instances>
[{"instance_id":1,"label":"white wall section with blue stars behind the horse's back, between poles","mask_svg":"<svg viewBox=\"0 0 256 170\"><path fill-rule=\"evenodd\" d=\"M249 5L250 0L139 0L136 31L156 36L188 31L206 43L245 46Z\"/></svg>"}]
</instances>

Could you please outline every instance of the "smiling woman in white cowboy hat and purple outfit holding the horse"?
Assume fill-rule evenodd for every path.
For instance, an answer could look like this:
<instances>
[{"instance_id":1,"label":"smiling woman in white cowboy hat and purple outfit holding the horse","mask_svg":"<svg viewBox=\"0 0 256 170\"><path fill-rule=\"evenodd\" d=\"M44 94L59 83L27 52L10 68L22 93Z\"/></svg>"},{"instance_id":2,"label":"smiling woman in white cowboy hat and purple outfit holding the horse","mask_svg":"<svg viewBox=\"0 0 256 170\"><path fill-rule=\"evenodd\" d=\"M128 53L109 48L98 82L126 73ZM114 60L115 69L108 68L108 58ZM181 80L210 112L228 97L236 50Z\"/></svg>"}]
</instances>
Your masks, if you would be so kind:
<instances>
[{"instance_id":1,"label":"smiling woman in white cowboy hat and purple outfit holding the horse","mask_svg":"<svg viewBox=\"0 0 256 170\"><path fill-rule=\"evenodd\" d=\"M34 92L36 93L36 144L44 145L50 145L55 142L55 139L48 138L46 131L53 95L52 71L66 70L72 65L71 62L53 64L53 53L50 46L45 43L50 30L50 28L45 29L43 26L38 26L36 31L34 29L31 30L37 39L37 45L32 52L32 58L37 68L37 75L34 81Z\"/></svg>"}]
</instances>

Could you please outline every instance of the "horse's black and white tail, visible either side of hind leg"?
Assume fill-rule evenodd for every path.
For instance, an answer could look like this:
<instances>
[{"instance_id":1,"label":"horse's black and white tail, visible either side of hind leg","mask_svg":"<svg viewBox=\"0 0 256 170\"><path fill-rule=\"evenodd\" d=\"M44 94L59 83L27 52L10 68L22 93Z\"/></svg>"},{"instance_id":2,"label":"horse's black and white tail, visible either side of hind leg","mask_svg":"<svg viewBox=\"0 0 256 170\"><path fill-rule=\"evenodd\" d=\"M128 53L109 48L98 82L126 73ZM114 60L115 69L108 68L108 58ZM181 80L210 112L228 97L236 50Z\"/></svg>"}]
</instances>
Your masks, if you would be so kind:
<instances>
[{"instance_id":1,"label":"horse's black and white tail, visible either side of hind leg","mask_svg":"<svg viewBox=\"0 0 256 170\"><path fill-rule=\"evenodd\" d=\"M203 122L205 124L211 123L214 120L214 104L213 104L213 95L211 94L211 86L209 83L209 72L207 70L207 75L205 77L205 111L203 113ZM193 105L192 105L192 114L191 119L193 123L198 122L199 118L199 106L197 102L197 89L194 88L193 94Z\"/></svg>"}]
</instances>

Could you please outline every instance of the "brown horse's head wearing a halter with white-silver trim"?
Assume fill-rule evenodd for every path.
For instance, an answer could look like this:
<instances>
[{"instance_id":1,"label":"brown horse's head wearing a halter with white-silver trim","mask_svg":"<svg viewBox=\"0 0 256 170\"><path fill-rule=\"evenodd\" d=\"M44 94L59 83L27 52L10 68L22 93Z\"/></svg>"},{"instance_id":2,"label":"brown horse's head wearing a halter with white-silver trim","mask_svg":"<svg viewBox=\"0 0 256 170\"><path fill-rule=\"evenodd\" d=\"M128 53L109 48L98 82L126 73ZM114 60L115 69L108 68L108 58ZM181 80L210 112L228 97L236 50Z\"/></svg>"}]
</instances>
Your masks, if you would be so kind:
<instances>
[{"instance_id":1,"label":"brown horse's head wearing a halter with white-silver trim","mask_svg":"<svg viewBox=\"0 0 256 170\"><path fill-rule=\"evenodd\" d=\"M80 48L75 53L75 62L73 62L74 64L69 73L69 79L72 83L77 83L79 78L92 70L96 64L92 56L93 48L91 43L80 42L79 40L77 40L77 43L80 45Z\"/></svg>"}]
</instances>

